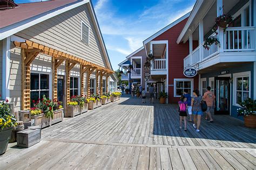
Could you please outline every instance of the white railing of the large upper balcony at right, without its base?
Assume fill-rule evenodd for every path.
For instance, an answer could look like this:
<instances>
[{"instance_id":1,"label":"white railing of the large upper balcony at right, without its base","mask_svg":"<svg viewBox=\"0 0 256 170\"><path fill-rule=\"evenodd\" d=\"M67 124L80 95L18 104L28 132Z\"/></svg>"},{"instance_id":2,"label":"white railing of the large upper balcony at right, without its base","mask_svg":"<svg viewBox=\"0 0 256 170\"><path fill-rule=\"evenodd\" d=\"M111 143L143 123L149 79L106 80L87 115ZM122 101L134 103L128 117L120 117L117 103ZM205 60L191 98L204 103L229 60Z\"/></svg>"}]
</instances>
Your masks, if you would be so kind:
<instances>
[{"instance_id":1,"label":"white railing of the large upper balcony at right, without its base","mask_svg":"<svg viewBox=\"0 0 256 170\"><path fill-rule=\"evenodd\" d=\"M255 27L253 26L227 28L226 33L224 33L224 42L220 42L220 46L223 47L224 52L255 51L254 33ZM203 44L200 44L184 58L184 67L211 58L219 50L220 47L216 44L212 44L208 50L203 47Z\"/></svg>"}]
</instances>

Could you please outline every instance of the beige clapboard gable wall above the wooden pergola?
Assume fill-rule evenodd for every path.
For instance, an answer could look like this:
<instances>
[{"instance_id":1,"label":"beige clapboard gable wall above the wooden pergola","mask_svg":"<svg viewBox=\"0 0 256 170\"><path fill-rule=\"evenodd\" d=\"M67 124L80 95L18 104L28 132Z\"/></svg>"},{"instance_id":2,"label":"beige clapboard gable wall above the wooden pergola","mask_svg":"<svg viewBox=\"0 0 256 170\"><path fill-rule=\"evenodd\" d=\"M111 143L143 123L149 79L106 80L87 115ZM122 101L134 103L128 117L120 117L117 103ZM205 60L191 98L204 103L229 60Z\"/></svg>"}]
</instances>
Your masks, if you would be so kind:
<instances>
[{"instance_id":1,"label":"beige clapboard gable wall above the wooden pergola","mask_svg":"<svg viewBox=\"0 0 256 170\"><path fill-rule=\"evenodd\" d=\"M90 27L89 45L81 41L81 21ZM87 4L33 25L16 35L89 62L106 66L103 50Z\"/></svg>"}]
</instances>

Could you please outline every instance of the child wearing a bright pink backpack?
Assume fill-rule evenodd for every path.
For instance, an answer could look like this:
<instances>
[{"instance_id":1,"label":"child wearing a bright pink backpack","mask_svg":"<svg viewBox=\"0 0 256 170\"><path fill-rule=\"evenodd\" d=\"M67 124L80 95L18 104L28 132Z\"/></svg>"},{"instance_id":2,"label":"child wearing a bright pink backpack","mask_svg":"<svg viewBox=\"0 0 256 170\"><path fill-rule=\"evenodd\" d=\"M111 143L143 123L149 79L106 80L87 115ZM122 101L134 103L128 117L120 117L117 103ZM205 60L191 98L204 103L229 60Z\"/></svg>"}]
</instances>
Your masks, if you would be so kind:
<instances>
[{"instance_id":1,"label":"child wearing a bright pink backpack","mask_svg":"<svg viewBox=\"0 0 256 170\"><path fill-rule=\"evenodd\" d=\"M185 100L185 96L181 95L179 104L179 128L182 128L182 120L184 120L184 131L187 130L187 101Z\"/></svg>"}]
</instances>

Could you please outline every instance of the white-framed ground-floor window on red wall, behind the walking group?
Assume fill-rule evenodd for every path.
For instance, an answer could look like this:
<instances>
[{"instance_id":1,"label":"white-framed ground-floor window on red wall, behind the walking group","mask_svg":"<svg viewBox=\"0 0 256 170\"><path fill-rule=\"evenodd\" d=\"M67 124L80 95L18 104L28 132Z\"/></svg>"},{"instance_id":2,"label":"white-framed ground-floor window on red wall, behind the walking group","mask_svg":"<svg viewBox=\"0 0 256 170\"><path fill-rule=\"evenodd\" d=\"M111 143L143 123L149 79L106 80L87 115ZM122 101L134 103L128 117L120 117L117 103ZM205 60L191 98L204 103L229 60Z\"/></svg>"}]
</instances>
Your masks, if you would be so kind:
<instances>
[{"instance_id":1,"label":"white-framed ground-floor window on red wall, behind the walking group","mask_svg":"<svg viewBox=\"0 0 256 170\"><path fill-rule=\"evenodd\" d=\"M185 89L192 96L193 84L193 79L174 79L174 97L180 97Z\"/></svg>"}]
</instances>

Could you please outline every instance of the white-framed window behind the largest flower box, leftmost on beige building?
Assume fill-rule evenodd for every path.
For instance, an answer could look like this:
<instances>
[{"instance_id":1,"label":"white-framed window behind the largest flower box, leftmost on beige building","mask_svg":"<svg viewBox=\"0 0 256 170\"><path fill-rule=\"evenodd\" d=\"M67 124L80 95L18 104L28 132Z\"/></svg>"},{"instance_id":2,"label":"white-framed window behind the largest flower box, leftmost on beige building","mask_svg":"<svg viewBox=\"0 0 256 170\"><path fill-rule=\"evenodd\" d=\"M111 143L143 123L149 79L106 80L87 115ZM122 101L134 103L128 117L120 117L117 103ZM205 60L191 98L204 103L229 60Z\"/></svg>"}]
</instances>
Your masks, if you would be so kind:
<instances>
[{"instance_id":1,"label":"white-framed window behind the largest flower box, leftmost on beige building","mask_svg":"<svg viewBox=\"0 0 256 170\"><path fill-rule=\"evenodd\" d=\"M32 100L37 101L45 97L50 97L49 74L30 73L30 102L33 106Z\"/></svg>"}]
</instances>

